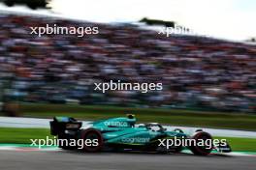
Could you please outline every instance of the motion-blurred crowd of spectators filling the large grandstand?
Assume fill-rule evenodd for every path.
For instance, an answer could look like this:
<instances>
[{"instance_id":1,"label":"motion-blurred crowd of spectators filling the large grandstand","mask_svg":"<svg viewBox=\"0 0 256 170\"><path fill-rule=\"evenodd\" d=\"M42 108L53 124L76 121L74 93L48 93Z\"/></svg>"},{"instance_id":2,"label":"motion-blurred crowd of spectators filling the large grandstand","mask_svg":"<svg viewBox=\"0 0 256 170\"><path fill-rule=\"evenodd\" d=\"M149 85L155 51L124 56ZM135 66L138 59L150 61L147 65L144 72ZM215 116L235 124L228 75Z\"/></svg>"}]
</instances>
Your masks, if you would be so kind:
<instances>
[{"instance_id":1,"label":"motion-blurred crowd of spectators filling the large grandstand","mask_svg":"<svg viewBox=\"0 0 256 170\"><path fill-rule=\"evenodd\" d=\"M100 34L30 35L47 23L99 26ZM4 100L255 112L255 45L15 14L0 14L0 27ZM163 91L94 91L110 80L162 82Z\"/></svg>"}]
</instances>

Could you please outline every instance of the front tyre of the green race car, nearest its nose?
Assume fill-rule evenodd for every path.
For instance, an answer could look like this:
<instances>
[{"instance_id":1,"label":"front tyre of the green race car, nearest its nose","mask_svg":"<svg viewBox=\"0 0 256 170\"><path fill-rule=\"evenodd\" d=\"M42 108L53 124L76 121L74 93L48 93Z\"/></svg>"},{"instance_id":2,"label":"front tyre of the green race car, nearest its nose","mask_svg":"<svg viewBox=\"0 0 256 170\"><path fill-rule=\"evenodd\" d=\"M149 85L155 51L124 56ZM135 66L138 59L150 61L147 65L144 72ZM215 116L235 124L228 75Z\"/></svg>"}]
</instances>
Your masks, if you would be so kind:
<instances>
[{"instance_id":1,"label":"front tyre of the green race car, nearest its nose","mask_svg":"<svg viewBox=\"0 0 256 170\"><path fill-rule=\"evenodd\" d=\"M199 131L192 136L192 139L195 139L196 145L190 146L189 149L194 155L208 156L208 154L210 154L210 152L212 150L212 146L210 146L210 148L208 148L209 146L206 145L206 140L212 140L212 137L208 132ZM204 141L203 146L198 146L200 141Z\"/></svg>"}]
</instances>

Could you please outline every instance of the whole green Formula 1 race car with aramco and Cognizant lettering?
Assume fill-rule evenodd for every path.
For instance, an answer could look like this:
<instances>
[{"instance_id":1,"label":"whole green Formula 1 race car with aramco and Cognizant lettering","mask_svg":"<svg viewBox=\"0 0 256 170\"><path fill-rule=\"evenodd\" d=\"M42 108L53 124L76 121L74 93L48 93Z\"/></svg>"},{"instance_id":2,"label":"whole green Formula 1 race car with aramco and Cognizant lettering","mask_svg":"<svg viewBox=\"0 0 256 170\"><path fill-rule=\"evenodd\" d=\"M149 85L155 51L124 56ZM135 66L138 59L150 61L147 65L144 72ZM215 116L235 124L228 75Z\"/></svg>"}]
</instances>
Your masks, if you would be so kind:
<instances>
[{"instance_id":1,"label":"whole green Formula 1 race car with aramco and Cognizant lettering","mask_svg":"<svg viewBox=\"0 0 256 170\"><path fill-rule=\"evenodd\" d=\"M196 130L194 134L185 134L181 129L167 130L158 123L136 125L133 115L127 117L112 118L86 124L69 117L54 117L50 122L50 133L57 139L91 140L96 145L83 145L85 152L100 151L143 151L157 153L179 153L183 149L189 149L194 155L207 156L211 151L220 153L231 152L227 143L212 143L211 135L202 129ZM201 145L185 144L180 141L193 140L201 142ZM208 142L207 142L208 141ZM172 145L171 145L172 143ZM208 145L207 145L208 143ZM67 146L59 144L65 150L78 149L78 146Z\"/></svg>"}]
</instances>

